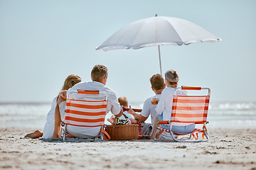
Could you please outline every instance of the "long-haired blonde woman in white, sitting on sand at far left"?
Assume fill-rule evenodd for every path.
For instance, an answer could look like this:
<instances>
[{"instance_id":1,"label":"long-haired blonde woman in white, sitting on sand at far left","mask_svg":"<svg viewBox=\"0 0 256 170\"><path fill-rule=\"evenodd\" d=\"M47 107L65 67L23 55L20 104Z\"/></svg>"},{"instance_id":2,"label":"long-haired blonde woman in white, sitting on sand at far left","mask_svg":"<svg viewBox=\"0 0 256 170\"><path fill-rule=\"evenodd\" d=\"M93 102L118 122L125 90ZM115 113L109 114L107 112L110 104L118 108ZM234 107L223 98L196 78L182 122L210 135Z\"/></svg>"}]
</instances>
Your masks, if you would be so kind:
<instances>
[{"instance_id":1,"label":"long-haired blonde woman in white, sitting on sand at far left","mask_svg":"<svg viewBox=\"0 0 256 170\"><path fill-rule=\"evenodd\" d=\"M73 87L75 84L78 84L81 81L81 78L78 75L71 74L69 75L63 84L61 91L68 90ZM37 138L42 137L43 139L49 139L53 136L54 123L55 123L55 108L57 105L57 100L59 96L53 98L53 103L51 105L50 111L47 114L46 124L43 128L43 132L36 130L35 132L28 133L25 137Z\"/></svg>"}]
</instances>

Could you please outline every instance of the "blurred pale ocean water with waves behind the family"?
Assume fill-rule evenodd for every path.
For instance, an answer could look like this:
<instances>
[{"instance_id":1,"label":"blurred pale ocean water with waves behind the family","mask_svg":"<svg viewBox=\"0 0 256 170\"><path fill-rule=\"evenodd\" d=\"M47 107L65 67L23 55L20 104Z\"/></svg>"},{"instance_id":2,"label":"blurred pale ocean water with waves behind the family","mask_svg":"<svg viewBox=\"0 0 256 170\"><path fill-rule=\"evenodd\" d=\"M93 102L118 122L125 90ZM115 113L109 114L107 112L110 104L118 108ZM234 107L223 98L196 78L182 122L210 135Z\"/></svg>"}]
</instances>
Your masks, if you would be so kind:
<instances>
[{"instance_id":1,"label":"blurred pale ocean water with waves behind the family","mask_svg":"<svg viewBox=\"0 0 256 170\"><path fill-rule=\"evenodd\" d=\"M142 108L143 103L131 103ZM43 130L50 103L0 103L0 128ZM108 113L106 118L110 118ZM211 102L208 128L256 128L256 102ZM151 123L148 118L147 123ZM110 124L105 121L106 124Z\"/></svg>"}]
</instances>

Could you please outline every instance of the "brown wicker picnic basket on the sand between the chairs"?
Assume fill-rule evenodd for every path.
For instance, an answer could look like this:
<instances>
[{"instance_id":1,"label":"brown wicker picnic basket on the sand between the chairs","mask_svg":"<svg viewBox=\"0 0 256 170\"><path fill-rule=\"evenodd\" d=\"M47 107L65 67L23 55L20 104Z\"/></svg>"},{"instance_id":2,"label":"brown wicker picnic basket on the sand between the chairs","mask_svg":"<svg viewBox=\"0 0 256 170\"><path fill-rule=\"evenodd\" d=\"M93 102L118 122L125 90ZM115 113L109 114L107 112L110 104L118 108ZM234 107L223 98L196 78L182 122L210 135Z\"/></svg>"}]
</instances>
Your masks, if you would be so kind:
<instances>
[{"instance_id":1,"label":"brown wicker picnic basket on the sand between the chairs","mask_svg":"<svg viewBox=\"0 0 256 170\"><path fill-rule=\"evenodd\" d=\"M110 135L110 140L137 140L139 137L139 125L106 125L105 130Z\"/></svg>"}]
</instances>

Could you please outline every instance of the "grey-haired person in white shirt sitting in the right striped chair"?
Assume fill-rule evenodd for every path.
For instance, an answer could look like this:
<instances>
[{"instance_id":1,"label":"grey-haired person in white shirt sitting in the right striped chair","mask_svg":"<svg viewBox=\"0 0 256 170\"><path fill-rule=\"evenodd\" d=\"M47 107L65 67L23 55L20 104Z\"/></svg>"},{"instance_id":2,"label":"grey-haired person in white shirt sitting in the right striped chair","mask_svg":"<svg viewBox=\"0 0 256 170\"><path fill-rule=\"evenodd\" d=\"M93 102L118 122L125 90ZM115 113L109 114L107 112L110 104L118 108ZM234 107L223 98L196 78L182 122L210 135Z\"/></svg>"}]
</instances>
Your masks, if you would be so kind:
<instances>
[{"instance_id":1,"label":"grey-haired person in white shirt sitting in the right striped chair","mask_svg":"<svg viewBox=\"0 0 256 170\"><path fill-rule=\"evenodd\" d=\"M174 69L169 69L165 73L165 83L166 88L162 91L159 103L156 106L156 118L154 120L153 130L156 128L157 120L171 120L171 110L174 99L174 90L178 86L178 73ZM188 95L186 91L178 90L176 91L178 96ZM174 132L178 133L189 133L195 129L195 124L191 123L172 123ZM162 128L169 129L169 125L161 125ZM156 133L156 138L161 136L160 131ZM151 133L151 137L153 132Z\"/></svg>"}]
</instances>

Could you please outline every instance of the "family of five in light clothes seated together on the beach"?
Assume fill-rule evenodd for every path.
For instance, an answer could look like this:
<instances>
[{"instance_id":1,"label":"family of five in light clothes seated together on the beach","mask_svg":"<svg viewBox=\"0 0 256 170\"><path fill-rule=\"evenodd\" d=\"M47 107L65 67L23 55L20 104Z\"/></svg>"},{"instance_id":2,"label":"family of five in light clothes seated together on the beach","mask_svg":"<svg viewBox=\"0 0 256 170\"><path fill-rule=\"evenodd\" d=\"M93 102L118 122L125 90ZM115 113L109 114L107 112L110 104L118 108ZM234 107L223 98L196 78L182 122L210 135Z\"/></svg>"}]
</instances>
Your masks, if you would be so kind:
<instances>
[{"instance_id":1,"label":"family of five in light clothes seated together on the beach","mask_svg":"<svg viewBox=\"0 0 256 170\"><path fill-rule=\"evenodd\" d=\"M29 133L25 137L42 137L43 139L58 138L60 132L60 122L65 119L65 101L67 98L67 91L69 90L88 90L88 91L103 91L107 94L107 111L111 112L113 117L121 118L124 111L122 107L128 107L128 101L125 97L117 98L117 95L108 88L107 83L107 67L103 65L95 65L92 68L91 79L89 82L81 82L81 78L75 74L68 76L65 79L62 90L59 95L53 99L51 109L47 115L46 125L43 132L36 130ZM141 113L136 113L129 106L129 111L125 115L129 118L129 123L144 123L149 115L151 116L151 125L155 129L157 120L171 120L172 101L174 97L174 90L178 84L178 74L175 70L169 69L165 73L165 80L160 74L154 74L150 78L151 89L156 94L144 101L144 106ZM178 95L187 95L186 91L177 91ZM157 99L157 100L156 100ZM152 101L153 100L153 101ZM156 100L156 102L154 101ZM122 117L121 117L122 116ZM125 119L125 118L124 118ZM111 121L111 120L110 120ZM145 125L146 126L146 125ZM148 127L148 126L147 126ZM173 126L178 132L193 131L194 124ZM68 133L76 137L90 138L93 132L90 128L81 131L75 126L70 125ZM151 132L153 134L153 132ZM150 135L150 134L149 134ZM156 138L169 139L171 135L167 132L156 132Z\"/></svg>"}]
</instances>

